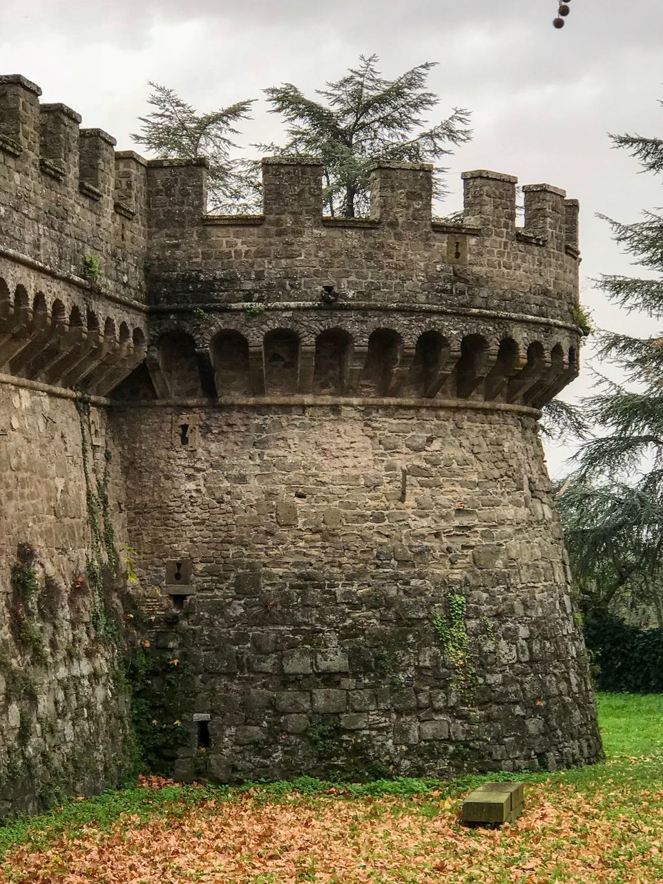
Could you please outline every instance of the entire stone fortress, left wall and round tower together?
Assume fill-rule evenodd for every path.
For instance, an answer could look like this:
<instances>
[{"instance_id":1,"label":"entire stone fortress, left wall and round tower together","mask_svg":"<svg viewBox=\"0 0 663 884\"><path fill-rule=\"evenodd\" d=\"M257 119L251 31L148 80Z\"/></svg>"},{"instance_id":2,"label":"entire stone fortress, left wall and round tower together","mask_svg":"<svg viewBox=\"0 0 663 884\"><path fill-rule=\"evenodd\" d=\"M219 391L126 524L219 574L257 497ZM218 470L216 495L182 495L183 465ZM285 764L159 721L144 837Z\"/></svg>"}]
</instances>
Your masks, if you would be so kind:
<instances>
[{"instance_id":1,"label":"entire stone fortress, left wall and round tower together","mask_svg":"<svg viewBox=\"0 0 663 884\"><path fill-rule=\"evenodd\" d=\"M190 672L178 776L598 758L536 423L578 371L577 202L527 186L520 228L516 180L471 171L450 221L429 166L384 164L369 218L326 218L315 158L267 158L263 214L209 216L204 160L40 94L0 76L0 664L34 685L5 683L0 810L118 778L101 492L106 565L135 551L153 657ZM20 608L27 547L57 615Z\"/></svg>"}]
</instances>

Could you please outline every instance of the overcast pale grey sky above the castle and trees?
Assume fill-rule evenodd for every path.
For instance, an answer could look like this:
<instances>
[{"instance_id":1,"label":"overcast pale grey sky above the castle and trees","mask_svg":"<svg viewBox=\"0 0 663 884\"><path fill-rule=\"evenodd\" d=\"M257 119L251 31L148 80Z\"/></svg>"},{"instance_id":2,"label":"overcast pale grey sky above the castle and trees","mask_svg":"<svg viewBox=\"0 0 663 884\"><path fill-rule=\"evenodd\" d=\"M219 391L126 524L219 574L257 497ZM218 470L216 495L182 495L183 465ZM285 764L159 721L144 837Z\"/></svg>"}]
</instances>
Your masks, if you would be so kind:
<instances>
[{"instance_id":1,"label":"overcast pale grey sky above the castle and trees","mask_svg":"<svg viewBox=\"0 0 663 884\"><path fill-rule=\"evenodd\" d=\"M283 81L313 90L360 54L377 53L388 77L436 61L430 84L440 116L469 108L475 132L450 158L444 211L460 208L466 169L564 187L581 201L582 300L596 324L651 333L642 318L608 305L591 278L630 272L595 213L632 221L663 202L659 182L638 175L606 134L661 134L663 2L568 2L566 27L556 30L555 0L4 0L0 72L34 80L42 101L70 105L83 126L105 129L126 149L146 110L147 80L213 110ZM244 141L278 141L279 133L261 99ZM590 380L585 364L564 395ZM549 448L553 474L567 453Z\"/></svg>"}]
</instances>

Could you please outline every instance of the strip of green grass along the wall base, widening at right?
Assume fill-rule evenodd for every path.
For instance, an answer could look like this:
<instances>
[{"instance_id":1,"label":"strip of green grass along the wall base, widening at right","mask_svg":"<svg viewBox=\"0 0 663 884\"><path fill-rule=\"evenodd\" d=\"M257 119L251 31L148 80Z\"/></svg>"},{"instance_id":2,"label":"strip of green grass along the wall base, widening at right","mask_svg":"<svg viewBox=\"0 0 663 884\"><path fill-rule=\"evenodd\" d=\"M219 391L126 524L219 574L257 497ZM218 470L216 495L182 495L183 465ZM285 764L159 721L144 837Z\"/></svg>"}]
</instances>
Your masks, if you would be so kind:
<instances>
[{"instance_id":1,"label":"strip of green grass along the wall base, widening at right","mask_svg":"<svg viewBox=\"0 0 663 884\"><path fill-rule=\"evenodd\" d=\"M606 760L594 766L555 773L518 773L519 780L573 785L583 793L623 787L623 801L614 812L628 812L637 802L638 789L651 788L663 781L663 695L599 694L598 716L606 750ZM329 796L335 788L339 800L392 796L405 801L419 797L423 814L438 812L440 798L460 796L487 780L510 780L513 773L466 775L454 780L377 780L369 783L339 783L300 777L294 781L247 783L239 787L193 784L166 786L162 789L118 789L85 800L67 799L52 811L23 817L0 827L0 857L18 843L29 843L34 850L44 850L60 834L81 834L94 825L108 831L118 819L133 816L141 821L154 817L182 817L190 808L210 798L240 801L248 791L254 801L301 803L317 796ZM426 800L430 797L430 803ZM423 799L423 800L422 800ZM398 812L394 809L394 812ZM129 825L129 823L127 823Z\"/></svg>"}]
</instances>

